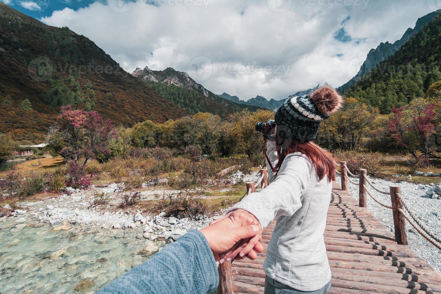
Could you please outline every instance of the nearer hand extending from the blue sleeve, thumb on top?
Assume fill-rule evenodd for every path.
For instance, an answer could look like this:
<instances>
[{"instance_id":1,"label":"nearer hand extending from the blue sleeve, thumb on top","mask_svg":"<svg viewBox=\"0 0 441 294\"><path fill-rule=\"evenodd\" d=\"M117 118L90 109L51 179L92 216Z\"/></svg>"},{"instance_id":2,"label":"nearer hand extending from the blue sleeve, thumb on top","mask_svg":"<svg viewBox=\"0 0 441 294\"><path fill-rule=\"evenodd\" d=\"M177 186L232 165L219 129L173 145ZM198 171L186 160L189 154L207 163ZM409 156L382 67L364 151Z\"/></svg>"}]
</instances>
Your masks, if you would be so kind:
<instances>
[{"instance_id":1,"label":"nearer hand extending from the blue sleeve, thumb on top","mask_svg":"<svg viewBox=\"0 0 441 294\"><path fill-rule=\"evenodd\" d=\"M243 239L253 238L260 231L261 228L256 225L236 227L231 218L224 218L203 228L201 233L207 239L211 251L213 251L214 259L218 261L219 253L234 248Z\"/></svg>"}]
</instances>

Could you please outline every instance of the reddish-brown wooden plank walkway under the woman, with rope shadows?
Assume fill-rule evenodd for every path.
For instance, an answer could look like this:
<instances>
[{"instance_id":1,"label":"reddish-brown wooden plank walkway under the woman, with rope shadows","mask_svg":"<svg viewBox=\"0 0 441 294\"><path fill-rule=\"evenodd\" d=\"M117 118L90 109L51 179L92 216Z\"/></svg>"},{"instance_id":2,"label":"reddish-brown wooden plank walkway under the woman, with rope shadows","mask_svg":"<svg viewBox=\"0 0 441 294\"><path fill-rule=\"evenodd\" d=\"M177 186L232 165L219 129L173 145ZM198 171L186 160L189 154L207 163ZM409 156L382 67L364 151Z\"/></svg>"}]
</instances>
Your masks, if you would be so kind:
<instances>
[{"instance_id":1,"label":"reddish-brown wooden plank walkway under the woman, with rope shadows","mask_svg":"<svg viewBox=\"0 0 441 294\"><path fill-rule=\"evenodd\" d=\"M233 262L235 293L263 293L262 264L274 224L263 231L265 251L258 254L257 260ZM398 245L394 234L336 183L329 204L325 244L332 272L331 294L441 293L441 274L414 250Z\"/></svg>"}]
</instances>

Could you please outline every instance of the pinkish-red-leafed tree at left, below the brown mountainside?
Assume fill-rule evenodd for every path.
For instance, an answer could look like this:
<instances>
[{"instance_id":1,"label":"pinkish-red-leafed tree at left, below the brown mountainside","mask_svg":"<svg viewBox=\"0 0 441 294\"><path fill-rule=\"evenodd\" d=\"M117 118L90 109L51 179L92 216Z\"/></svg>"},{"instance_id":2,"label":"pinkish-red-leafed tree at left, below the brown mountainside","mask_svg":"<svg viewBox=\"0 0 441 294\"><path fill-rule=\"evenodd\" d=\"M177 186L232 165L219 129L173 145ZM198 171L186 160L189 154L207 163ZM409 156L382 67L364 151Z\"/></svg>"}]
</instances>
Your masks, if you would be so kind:
<instances>
[{"instance_id":1,"label":"pinkish-red-leafed tree at left, below the brown mountainside","mask_svg":"<svg viewBox=\"0 0 441 294\"><path fill-rule=\"evenodd\" d=\"M58 131L52 134L52 149L67 160L67 184L88 186L90 177L83 175L87 161L110 153L108 142L116 138L115 126L109 119L103 119L97 112L61 108L57 117Z\"/></svg>"}]
</instances>

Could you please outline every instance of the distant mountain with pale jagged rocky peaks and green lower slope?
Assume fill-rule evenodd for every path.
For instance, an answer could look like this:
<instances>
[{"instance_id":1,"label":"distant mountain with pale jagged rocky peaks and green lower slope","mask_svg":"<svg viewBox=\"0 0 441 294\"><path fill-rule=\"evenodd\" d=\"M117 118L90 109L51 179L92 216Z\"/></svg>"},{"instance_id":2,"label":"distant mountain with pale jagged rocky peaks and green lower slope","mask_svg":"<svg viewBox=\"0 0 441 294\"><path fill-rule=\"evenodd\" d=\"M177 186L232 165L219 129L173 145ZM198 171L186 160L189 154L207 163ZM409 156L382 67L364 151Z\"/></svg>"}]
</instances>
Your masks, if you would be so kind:
<instances>
[{"instance_id":1,"label":"distant mountain with pale jagged rocky peaks and green lower slope","mask_svg":"<svg viewBox=\"0 0 441 294\"><path fill-rule=\"evenodd\" d=\"M225 117L240 111L246 105L217 96L195 82L186 72L168 67L163 71L152 71L149 67L136 68L132 76L143 80L168 100L194 114L211 112Z\"/></svg>"}]
</instances>

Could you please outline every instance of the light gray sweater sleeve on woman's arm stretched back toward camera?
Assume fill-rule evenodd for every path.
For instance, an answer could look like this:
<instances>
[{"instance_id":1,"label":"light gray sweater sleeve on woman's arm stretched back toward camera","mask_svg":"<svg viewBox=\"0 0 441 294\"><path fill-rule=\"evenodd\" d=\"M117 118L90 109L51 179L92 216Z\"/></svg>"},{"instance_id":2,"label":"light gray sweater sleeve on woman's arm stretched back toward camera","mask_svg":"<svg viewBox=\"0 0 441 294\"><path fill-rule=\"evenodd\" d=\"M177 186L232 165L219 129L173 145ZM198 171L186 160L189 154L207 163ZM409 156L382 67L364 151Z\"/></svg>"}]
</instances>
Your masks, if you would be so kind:
<instances>
[{"instance_id":1,"label":"light gray sweater sleeve on woman's arm stretched back toward camera","mask_svg":"<svg viewBox=\"0 0 441 294\"><path fill-rule=\"evenodd\" d=\"M286 157L276 179L268 187L249 194L228 212L244 209L253 214L263 228L274 217L294 215L302 207L300 197L307 188L312 168L310 162L302 156Z\"/></svg>"}]
</instances>

